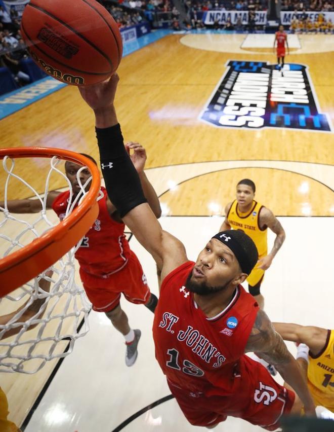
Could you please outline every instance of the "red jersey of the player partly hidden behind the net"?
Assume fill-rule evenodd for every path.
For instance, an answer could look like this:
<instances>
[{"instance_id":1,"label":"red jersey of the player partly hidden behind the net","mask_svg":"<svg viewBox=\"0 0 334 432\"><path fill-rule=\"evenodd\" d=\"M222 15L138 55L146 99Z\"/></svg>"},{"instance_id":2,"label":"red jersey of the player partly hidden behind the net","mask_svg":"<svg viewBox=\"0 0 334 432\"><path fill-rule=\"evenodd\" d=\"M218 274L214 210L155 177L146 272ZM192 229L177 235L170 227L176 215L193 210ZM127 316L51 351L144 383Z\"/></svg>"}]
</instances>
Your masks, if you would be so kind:
<instances>
[{"instance_id":1,"label":"red jersey of the player partly hidden behind the net","mask_svg":"<svg viewBox=\"0 0 334 432\"><path fill-rule=\"evenodd\" d=\"M80 268L96 276L116 273L127 265L130 246L124 235L124 224L114 221L107 209L107 192L101 187L103 198L98 201L99 215L81 241L75 253ZM60 220L64 219L69 191L57 196L52 208Z\"/></svg>"}]
</instances>

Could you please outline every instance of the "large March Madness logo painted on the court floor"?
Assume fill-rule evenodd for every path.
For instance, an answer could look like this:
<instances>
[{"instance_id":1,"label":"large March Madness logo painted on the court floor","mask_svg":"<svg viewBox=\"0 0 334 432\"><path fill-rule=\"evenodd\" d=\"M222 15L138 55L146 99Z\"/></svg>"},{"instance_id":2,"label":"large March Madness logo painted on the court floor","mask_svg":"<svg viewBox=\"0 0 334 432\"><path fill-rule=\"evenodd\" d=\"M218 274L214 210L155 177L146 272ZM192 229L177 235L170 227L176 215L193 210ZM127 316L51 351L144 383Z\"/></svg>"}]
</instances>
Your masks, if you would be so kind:
<instances>
[{"instance_id":1,"label":"large March Madness logo painted on the court floor","mask_svg":"<svg viewBox=\"0 0 334 432\"><path fill-rule=\"evenodd\" d=\"M282 73L275 64L229 61L227 72L200 119L225 128L288 128L330 132L319 112L308 67L290 63Z\"/></svg>"}]
</instances>

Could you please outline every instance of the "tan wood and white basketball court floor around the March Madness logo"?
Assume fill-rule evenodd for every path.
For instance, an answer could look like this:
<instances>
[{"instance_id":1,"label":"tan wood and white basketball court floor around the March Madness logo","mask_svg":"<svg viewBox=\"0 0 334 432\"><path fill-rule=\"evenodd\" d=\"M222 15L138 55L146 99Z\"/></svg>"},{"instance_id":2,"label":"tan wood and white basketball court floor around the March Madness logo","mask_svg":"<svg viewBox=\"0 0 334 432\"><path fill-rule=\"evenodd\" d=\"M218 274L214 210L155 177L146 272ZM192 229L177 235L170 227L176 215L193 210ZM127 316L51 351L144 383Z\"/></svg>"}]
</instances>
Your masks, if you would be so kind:
<instances>
[{"instance_id":1,"label":"tan wood and white basketball court floor around the March Madness logo","mask_svg":"<svg viewBox=\"0 0 334 432\"><path fill-rule=\"evenodd\" d=\"M259 38L266 36L259 35ZM205 237L218 230L225 204L234 198L239 179L252 178L257 186L257 199L279 216L287 232L286 244L264 282L265 289L271 286L264 291L266 311L272 320L333 328L332 307L324 300L326 296L332 298L327 285L331 276L324 272L332 265L334 240L330 218L334 215L333 134L288 128L218 128L199 119L228 61L275 63L268 45L270 41L254 42L252 47L252 41L244 44L245 38L243 34L172 34L123 58L118 69L118 120L124 139L138 141L146 148L147 174L160 195L163 210L161 224L182 238L187 249L189 247L191 259L195 259L200 250L199 239L205 242ZM285 61L308 66L321 113L327 114L333 123L334 54L331 48L334 36L300 35L297 39L300 46L296 42ZM31 104L1 120L0 125L2 148L58 147L89 153L98 159L93 115L75 87L68 86ZM43 192L43 164L36 160L22 161L20 172L38 192ZM4 184L3 172L0 175ZM55 181L51 188L65 186L63 181ZM3 190L0 200L2 194ZM27 196L27 190L17 185L9 189L10 199ZM196 230L199 234L194 240ZM316 254L311 252L306 238L314 230L319 233L317 242L312 240ZM269 240L272 242L271 236ZM152 260L134 239L131 246L143 262L152 291L157 294ZM53 380L54 387L41 399L31 421L25 423L26 430L86 432L93 430L94 424L94 430L114 430L134 412L168 394L154 359L152 316L141 307L125 302L122 306L129 313L130 322L135 321L146 333L139 348L139 357L145 356L145 362L139 358L131 370L126 369L121 337L105 316L91 313L92 335L77 342L79 357L74 352L60 366ZM1 313L8 311L1 310ZM93 335L98 340L94 340ZM99 361L94 353L99 356L99 352L106 349L105 345L112 351L112 355L107 354L109 363L97 366ZM294 347L289 347L294 351ZM82 375L79 376L79 372L78 376L67 375L73 373L75 367L80 369L80 365L75 364L78 361ZM35 375L1 374L0 385L8 395L10 419L18 425L29 414L55 365L55 361L50 362ZM67 388L63 388L66 379ZM107 388L104 388L106 381ZM147 390L141 400L144 386ZM71 392L69 387L75 387L77 393ZM58 423L51 421L47 415L52 409L53 419L55 413L66 411L69 403L65 403L66 392L76 394L67 407L68 416L63 416ZM81 397L84 402L76 400L80 392L85 392ZM92 423L85 410L90 406L94 413L95 398L101 398L99 404L107 404L110 416L107 412L100 413L101 420L97 418ZM135 425L115 430L168 431L173 426L174 430L195 430L185 423L173 404L175 401L166 402L161 405L166 408L160 407L159 415L148 411L141 422L136 420ZM169 416L175 420L173 425L166 420ZM149 426L145 428L145 424ZM261 429L234 419L229 423L229 430Z\"/></svg>"}]
</instances>

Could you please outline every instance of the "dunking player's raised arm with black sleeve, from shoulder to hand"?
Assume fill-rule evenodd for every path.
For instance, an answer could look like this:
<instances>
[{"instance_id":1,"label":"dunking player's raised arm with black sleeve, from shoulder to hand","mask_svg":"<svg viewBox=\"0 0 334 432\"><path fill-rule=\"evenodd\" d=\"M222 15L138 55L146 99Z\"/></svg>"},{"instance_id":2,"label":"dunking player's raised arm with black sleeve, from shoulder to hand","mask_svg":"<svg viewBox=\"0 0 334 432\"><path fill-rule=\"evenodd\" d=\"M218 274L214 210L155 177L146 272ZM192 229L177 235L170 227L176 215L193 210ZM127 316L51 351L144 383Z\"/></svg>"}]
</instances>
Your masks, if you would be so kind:
<instances>
[{"instance_id":1,"label":"dunking player's raised arm with black sleeve, from shoulder to hand","mask_svg":"<svg viewBox=\"0 0 334 432\"><path fill-rule=\"evenodd\" d=\"M110 201L137 240L161 269L161 278L187 261L183 244L162 230L146 202L139 175L123 144L114 98L118 76L94 86L80 87L82 98L95 114L102 174Z\"/></svg>"}]
</instances>

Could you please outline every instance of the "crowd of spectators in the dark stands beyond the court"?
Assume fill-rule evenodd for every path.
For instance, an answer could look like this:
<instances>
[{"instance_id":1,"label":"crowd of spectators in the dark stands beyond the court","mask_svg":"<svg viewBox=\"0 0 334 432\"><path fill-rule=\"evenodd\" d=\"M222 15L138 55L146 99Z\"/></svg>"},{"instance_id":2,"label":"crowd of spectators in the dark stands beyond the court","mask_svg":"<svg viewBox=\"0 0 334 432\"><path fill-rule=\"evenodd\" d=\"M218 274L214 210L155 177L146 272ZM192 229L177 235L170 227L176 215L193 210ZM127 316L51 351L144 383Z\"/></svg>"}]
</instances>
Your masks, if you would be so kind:
<instances>
[{"instance_id":1,"label":"crowd of spectators in the dark stands beyond the court","mask_svg":"<svg viewBox=\"0 0 334 432\"><path fill-rule=\"evenodd\" d=\"M203 13L206 11L247 11L248 24L245 26L238 18L236 23L230 19L224 25L218 21L211 25L214 29L253 31L255 13L267 9L267 0L183 0L187 19L180 20L180 12L172 3L173 0L99 0L110 12L120 29L149 22L151 26L161 27L162 23L174 30L189 30L205 28ZM305 12L334 11L334 0L282 0L282 11L296 12L290 25L292 33L323 32L332 33L331 20L326 20L319 14L312 21ZM9 11L0 5L0 67L7 67L19 86L30 81L29 76L21 70L20 60L27 57L20 31L20 17L12 6Z\"/></svg>"}]
</instances>

